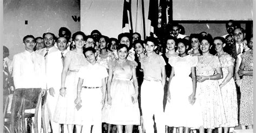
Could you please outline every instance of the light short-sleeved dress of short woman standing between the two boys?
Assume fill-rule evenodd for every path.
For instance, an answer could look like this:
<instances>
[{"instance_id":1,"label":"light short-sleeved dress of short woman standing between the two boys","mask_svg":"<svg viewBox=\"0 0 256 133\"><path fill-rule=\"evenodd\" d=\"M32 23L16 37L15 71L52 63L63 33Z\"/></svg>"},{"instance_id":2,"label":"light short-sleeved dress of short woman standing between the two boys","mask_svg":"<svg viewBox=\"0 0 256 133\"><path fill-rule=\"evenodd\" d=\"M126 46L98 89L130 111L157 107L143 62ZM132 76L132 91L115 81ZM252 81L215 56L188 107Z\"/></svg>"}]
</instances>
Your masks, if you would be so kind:
<instances>
[{"instance_id":1,"label":"light short-sleeved dress of short woman standing between the two boys","mask_svg":"<svg viewBox=\"0 0 256 133\"><path fill-rule=\"evenodd\" d=\"M137 66L136 62L126 60L118 63L117 60L110 64L113 69L113 79L110 87L111 106L107 122L117 125L140 124L140 112L138 102L132 103L135 88L131 82L132 68Z\"/></svg>"}]
</instances>

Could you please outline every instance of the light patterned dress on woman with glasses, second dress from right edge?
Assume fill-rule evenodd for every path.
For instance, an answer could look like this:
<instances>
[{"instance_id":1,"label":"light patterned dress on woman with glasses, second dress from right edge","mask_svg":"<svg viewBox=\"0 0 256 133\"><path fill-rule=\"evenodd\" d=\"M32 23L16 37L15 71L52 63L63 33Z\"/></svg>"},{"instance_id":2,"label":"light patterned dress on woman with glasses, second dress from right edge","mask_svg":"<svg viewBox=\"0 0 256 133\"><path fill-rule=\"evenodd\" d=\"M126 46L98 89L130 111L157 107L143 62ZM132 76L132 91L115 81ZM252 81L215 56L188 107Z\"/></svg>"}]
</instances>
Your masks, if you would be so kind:
<instances>
[{"instance_id":1,"label":"light patterned dress on woman with glasses, second dress from right edge","mask_svg":"<svg viewBox=\"0 0 256 133\"><path fill-rule=\"evenodd\" d=\"M221 84L228 75L228 67L234 67L234 58L225 53L219 56L219 60L223 72L223 78L218 80L219 84ZM238 103L237 88L235 87L234 79L231 78L220 90L227 119L227 123L222 124L221 127L235 127L238 125Z\"/></svg>"}]
</instances>

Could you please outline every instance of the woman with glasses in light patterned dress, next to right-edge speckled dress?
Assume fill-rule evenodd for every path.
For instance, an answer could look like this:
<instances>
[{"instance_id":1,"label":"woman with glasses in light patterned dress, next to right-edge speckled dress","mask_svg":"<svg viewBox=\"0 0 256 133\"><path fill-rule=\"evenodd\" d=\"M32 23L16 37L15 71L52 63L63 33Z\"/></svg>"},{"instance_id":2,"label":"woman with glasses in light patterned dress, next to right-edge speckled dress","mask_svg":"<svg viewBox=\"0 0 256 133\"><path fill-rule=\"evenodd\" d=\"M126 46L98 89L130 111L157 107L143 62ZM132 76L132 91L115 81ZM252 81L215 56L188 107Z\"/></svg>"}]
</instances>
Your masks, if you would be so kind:
<instances>
[{"instance_id":1,"label":"woman with glasses in light patterned dress, next to right-edge speckled dress","mask_svg":"<svg viewBox=\"0 0 256 133\"><path fill-rule=\"evenodd\" d=\"M226 46L224 38L218 36L213 40L223 71L223 78L219 79L218 82L227 119L227 123L222 124L218 130L222 132L224 128L224 133L227 133L230 127L238 125L237 88L233 79L234 58L224 51Z\"/></svg>"}]
</instances>

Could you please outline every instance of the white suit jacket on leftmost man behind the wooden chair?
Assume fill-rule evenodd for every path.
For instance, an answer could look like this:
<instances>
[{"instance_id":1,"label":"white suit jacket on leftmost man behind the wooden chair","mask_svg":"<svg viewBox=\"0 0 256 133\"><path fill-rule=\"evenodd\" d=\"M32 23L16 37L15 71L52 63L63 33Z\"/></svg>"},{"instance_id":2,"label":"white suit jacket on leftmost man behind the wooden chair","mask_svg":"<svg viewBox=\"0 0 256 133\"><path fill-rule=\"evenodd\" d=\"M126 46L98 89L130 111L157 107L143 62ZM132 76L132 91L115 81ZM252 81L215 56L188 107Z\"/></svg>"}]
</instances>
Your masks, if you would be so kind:
<instances>
[{"instance_id":1,"label":"white suit jacket on leftmost man behind the wooden chair","mask_svg":"<svg viewBox=\"0 0 256 133\"><path fill-rule=\"evenodd\" d=\"M33 56L25 50L14 55L15 88L46 88L44 57L35 52L32 53Z\"/></svg>"}]
</instances>

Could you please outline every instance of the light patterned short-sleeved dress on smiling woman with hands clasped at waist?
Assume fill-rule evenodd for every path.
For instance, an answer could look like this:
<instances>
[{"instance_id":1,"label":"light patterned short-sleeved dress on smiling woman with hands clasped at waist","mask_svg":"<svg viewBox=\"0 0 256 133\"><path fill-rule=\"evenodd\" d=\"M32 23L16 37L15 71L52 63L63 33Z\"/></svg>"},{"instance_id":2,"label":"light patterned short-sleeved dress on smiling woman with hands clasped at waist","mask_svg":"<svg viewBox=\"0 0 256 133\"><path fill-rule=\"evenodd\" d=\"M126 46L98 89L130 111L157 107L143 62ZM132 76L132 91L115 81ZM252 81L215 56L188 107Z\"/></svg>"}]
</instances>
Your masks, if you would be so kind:
<instances>
[{"instance_id":1,"label":"light patterned short-sleeved dress on smiling woman with hands clasped at waist","mask_svg":"<svg viewBox=\"0 0 256 133\"><path fill-rule=\"evenodd\" d=\"M196 73L197 76L212 76L220 67L218 56L202 55L198 56ZM204 128L218 128L227 122L218 80L197 82L196 98L203 113Z\"/></svg>"}]
</instances>

